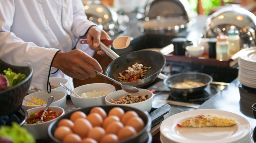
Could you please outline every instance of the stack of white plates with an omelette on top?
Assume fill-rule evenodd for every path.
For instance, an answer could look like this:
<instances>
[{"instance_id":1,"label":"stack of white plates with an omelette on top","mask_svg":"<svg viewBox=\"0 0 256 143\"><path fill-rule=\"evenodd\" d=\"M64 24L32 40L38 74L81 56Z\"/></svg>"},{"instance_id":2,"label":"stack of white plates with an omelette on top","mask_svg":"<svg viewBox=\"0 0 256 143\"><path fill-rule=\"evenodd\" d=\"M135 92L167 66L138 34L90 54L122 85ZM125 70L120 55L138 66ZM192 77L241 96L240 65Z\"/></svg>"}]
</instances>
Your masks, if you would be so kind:
<instances>
[{"instance_id":1,"label":"stack of white plates with an omelette on top","mask_svg":"<svg viewBox=\"0 0 256 143\"><path fill-rule=\"evenodd\" d=\"M177 124L191 116L218 114L235 119L237 124L230 127L178 127ZM242 116L214 109L191 110L165 119L160 126L161 143L253 143L250 123Z\"/></svg>"}]
</instances>

